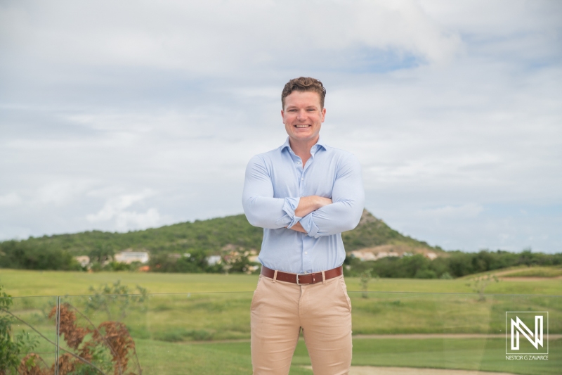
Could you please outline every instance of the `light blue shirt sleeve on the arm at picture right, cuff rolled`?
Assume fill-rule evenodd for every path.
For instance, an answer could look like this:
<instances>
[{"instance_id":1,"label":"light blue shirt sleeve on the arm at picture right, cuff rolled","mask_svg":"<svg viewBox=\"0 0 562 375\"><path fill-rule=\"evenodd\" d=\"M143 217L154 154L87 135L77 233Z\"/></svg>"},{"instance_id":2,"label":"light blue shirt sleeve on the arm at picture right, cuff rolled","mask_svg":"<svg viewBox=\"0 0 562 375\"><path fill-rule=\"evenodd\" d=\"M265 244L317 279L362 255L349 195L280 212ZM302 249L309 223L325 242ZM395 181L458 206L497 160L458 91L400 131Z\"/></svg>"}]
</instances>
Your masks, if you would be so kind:
<instances>
[{"instance_id":1,"label":"light blue shirt sleeve on the arm at picture right, cuff rolled","mask_svg":"<svg viewBox=\"0 0 562 375\"><path fill-rule=\"evenodd\" d=\"M359 160L349 154L339 165L332 190L332 204L309 213L300 222L308 236L315 239L338 234L357 227L364 205L361 166Z\"/></svg>"}]
</instances>

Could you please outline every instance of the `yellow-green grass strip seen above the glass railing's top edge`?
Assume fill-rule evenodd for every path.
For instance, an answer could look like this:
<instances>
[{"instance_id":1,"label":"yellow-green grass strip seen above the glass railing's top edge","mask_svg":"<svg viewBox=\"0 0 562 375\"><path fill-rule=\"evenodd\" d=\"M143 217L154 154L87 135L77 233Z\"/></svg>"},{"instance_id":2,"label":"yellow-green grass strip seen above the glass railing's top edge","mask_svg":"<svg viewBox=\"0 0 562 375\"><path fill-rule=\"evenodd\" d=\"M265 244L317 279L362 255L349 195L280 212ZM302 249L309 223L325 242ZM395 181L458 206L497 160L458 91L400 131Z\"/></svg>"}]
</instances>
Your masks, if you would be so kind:
<instances>
[{"instance_id":1,"label":"yellow-green grass strip seen above the glass railing's top edge","mask_svg":"<svg viewBox=\"0 0 562 375\"><path fill-rule=\"evenodd\" d=\"M62 272L0 270L0 284L7 293L24 295L83 295L89 286L109 284L121 280L122 284L139 284L149 293L197 293L254 291L256 275L244 274L157 274L139 272ZM379 279L369 284L370 291L414 293L472 293L466 279ZM358 278L346 279L348 291L360 291ZM486 293L562 295L562 279L502 280L492 283Z\"/></svg>"}]
</instances>

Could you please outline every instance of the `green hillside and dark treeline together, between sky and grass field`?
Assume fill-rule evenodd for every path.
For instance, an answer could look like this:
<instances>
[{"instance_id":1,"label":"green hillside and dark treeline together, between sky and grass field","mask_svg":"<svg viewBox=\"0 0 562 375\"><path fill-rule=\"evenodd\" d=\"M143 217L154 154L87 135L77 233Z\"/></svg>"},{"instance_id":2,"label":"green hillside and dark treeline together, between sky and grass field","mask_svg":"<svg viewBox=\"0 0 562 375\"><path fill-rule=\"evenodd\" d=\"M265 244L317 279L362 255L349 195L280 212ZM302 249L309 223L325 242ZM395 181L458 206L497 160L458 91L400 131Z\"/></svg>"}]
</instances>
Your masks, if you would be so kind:
<instances>
[{"instance_id":1,"label":"green hillside and dark treeline together, between sky and grass field","mask_svg":"<svg viewBox=\"0 0 562 375\"><path fill-rule=\"evenodd\" d=\"M0 268L79 270L82 267L74 256L89 255L90 268L96 272L135 270L140 263L126 265L110 261L115 253L131 249L150 252L151 272L255 273L258 264L251 262L249 255L259 250L261 239L262 229L252 227L244 215L128 233L86 231L1 242ZM362 262L349 256L345 261L345 274L352 277L370 272L383 278L449 279L523 265L562 265L562 253L532 253L530 249L521 253L502 250L445 252L438 246L432 248L423 241L403 236L366 210L358 227L344 232L342 239L348 252L388 245L412 250L407 252L409 256L377 261ZM438 258L429 260L421 254L427 251L438 254ZM222 261L209 265L210 255L221 255ZM562 274L556 272L556 275Z\"/></svg>"}]
</instances>

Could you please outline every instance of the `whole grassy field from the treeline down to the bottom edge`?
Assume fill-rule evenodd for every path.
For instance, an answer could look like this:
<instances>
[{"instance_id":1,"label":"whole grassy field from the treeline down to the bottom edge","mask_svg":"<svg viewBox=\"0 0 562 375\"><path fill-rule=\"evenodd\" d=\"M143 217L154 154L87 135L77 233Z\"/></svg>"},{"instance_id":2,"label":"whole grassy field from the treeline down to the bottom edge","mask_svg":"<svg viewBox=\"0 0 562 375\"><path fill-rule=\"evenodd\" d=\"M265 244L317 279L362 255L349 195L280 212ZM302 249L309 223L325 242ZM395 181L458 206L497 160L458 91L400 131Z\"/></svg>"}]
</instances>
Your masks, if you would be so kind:
<instances>
[{"instance_id":1,"label":"whole grassy field from the treeline down to the bottom edge","mask_svg":"<svg viewBox=\"0 0 562 375\"><path fill-rule=\"evenodd\" d=\"M108 298L107 312L88 307L89 286L121 280L140 284L152 294L142 303L128 297ZM94 324L119 319L134 338L143 374L249 374L249 305L256 276L212 274L139 274L0 271L0 284L12 295L67 295L69 303ZM364 298L357 279L347 279L353 305L353 334L505 332L506 311L548 311L549 333L562 333L562 281L501 281L490 284L485 300L464 280L382 279L372 281ZM211 291L215 293L197 293ZM218 293L218 292L223 293ZM176 292L164 293L164 292ZM74 294L74 296L72 296ZM80 295L82 294L82 295ZM55 297L14 298L12 311L55 340L46 315ZM124 314L122 314L124 312ZM111 316L109 315L111 314ZM78 317L78 324L87 326ZM16 324L15 331L25 329ZM226 341L237 342L226 342ZM52 345L38 351L53 357ZM514 374L559 374L562 340L550 341L548 362L509 362L504 338L365 338L355 336L353 364L507 371ZM311 374L302 342L291 374Z\"/></svg>"}]
</instances>

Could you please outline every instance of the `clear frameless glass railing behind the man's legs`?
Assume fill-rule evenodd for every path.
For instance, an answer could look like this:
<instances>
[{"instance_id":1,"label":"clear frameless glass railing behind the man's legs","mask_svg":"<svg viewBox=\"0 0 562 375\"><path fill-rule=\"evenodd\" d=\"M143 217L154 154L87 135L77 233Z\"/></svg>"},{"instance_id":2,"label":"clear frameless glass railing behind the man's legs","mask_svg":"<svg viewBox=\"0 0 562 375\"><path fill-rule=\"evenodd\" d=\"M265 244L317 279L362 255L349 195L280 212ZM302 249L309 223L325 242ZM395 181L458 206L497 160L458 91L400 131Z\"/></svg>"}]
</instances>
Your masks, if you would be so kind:
<instances>
[{"instance_id":1,"label":"clear frameless glass railing behind the man's legs","mask_svg":"<svg viewBox=\"0 0 562 375\"><path fill-rule=\"evenodd\" d=\"M562 373L561 296L349 295L356 374L377 374L381 367L392 374L412 374L412 368L433 369L428 374ZM9 313L4 309L0 317L11 319L20 351L18 370L6 374L251 374L251 297L11 298ZM310 366L301 339L291 374L312 374Z\"/></svg>"}]
</instances>

